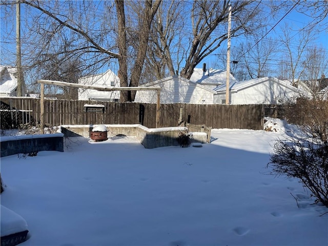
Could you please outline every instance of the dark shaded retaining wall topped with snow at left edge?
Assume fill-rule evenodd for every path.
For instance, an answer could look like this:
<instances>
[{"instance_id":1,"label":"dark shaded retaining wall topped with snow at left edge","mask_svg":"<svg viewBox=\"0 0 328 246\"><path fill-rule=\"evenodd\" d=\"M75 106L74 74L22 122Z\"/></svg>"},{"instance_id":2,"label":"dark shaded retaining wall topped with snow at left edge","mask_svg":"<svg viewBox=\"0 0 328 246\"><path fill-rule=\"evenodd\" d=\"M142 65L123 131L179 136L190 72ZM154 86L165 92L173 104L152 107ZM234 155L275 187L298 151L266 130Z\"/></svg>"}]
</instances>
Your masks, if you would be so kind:
<instances>
[{"instance_id":1,"label":"dark shaded retaining wall topped with snow at left edge","mask_svg":"<svg viewBox=\"0 0 328 246\"><path fill-rule=\"evenodd\" d=\"M1 137L1 157L38 151L64 151L64 134Z\"/></svg>"}]
</instances>

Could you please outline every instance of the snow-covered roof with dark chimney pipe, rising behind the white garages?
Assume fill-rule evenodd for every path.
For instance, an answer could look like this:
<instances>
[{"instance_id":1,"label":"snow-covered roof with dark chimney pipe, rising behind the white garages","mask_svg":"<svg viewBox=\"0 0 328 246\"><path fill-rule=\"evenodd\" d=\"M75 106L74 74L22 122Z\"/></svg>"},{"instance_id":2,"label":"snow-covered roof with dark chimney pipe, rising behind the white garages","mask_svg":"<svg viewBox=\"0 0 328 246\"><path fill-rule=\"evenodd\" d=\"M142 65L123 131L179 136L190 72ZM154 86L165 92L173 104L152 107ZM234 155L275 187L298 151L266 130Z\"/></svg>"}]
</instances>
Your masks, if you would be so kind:
<instances>
[{"instance_id":1,"label":"snow-covered roof with dark chimney pipe, rising behind the white garages","mask_svg":"<svg viewBox=\"0 0 328 246\"><path fill-rule=\"evenodd\" d=\"M201 68L195 68L189 80L201 85L220 85L226 83L227 71L210 68L203 72ZM230 74L230 82L237 82L232 74Z\"/></svg>"}]
</instances>

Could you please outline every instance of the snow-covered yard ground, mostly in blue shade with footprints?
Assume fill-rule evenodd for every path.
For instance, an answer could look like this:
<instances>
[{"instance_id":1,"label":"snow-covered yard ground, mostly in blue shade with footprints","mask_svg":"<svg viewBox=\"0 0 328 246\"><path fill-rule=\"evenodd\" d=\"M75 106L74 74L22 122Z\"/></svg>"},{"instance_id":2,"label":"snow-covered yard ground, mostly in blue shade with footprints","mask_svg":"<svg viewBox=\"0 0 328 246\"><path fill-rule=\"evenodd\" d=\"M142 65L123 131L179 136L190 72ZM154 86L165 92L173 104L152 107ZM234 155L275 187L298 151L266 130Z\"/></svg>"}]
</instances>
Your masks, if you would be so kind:
<instances>
[{"instance_id":1,"label":"snow-covered yard ground, mostly in blue shade with footprints","mask_svg":"<svg viewBox=\"0 0 328 246\"><path fill-rule=\"evenodd\" d=\"M2 157L1 204L28 223L21 245L328 245L328 209L267 174L274 139L290 131L270 126L215 129L202 148L79 137L65 152Z\"/></svg>"}]
</instances>

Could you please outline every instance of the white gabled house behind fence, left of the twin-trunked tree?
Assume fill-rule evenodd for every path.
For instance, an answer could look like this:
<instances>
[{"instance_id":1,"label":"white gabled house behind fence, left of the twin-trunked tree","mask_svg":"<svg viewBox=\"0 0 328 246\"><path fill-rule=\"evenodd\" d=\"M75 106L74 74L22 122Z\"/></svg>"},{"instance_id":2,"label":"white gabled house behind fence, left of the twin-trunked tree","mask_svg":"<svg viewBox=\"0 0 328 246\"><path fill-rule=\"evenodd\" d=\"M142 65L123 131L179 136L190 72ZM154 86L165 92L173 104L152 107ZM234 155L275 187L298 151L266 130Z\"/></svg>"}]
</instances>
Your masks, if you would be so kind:
<instances>
[{"instance_id":1,"label":"white gabled house behind fence, left of the twin-trunked tree","mask_svg":"<svg viewBox=\"0 0 328 246\"><path fill-rule=\"evenodd\" d=\"M119 78L111 71L105 73L81 77L78 84L99 87L120 87ZM119 101L119 91L97 91L90 89L78 89L79 100Z\"/></svg>"}]
</instances>

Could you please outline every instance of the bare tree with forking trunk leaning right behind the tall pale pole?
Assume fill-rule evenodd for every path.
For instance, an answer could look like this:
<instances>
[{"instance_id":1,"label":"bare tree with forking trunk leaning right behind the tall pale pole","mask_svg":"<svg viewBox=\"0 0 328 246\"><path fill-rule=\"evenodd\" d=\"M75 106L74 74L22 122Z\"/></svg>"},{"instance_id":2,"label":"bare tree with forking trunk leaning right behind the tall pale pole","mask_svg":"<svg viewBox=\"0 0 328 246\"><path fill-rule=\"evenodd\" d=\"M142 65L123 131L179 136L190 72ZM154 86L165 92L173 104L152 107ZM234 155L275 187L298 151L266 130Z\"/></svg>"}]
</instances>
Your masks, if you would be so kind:
<instances>
[{"instance_id":1,"label":"bare tree with forking trunk leaning right behind the tall pale pole","mask_svg":"<svg viewBox=\"0 0 328 246\"><path fill-rule=\"evenodd\" d=\"M228 38L226 26L229 5L232 4L233 25L231 36L255 31L262 26L253 21L260 12L252 1L194 1L191 9L192 38L186 65L180 75L190 78L194 68L207 55L215 51ZM224 25L224 27L219 25Z\"/></svg>"}]
</instances>

